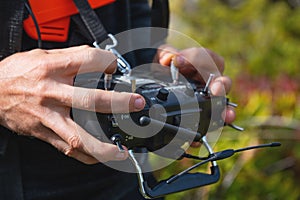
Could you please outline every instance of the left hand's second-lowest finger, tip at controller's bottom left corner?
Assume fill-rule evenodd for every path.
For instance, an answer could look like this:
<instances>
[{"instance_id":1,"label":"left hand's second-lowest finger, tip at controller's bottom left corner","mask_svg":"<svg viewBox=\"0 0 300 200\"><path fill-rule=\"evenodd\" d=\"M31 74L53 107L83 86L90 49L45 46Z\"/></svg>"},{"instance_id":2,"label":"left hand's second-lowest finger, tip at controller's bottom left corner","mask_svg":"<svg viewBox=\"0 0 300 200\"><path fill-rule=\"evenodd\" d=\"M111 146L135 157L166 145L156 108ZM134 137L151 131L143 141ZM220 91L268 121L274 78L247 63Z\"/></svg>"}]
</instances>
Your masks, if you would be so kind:
<instances>
[{"instance_id":1,"label":"left hand's second-lowest finger, tip at controller's bottom left corner","mask_svg":"<svg viewBox=\"0 0 300 200\"><path fill-rule=\"evenodd\" d=\"M83 154L78 154L78 152L84 152L84 154L94 157L100 162L124 160L128 157L126 151L119 152L116 145L97 140L70 118L63 118L53 113L51 119L44 120L43 124L46 127L51 127L67 143L68 148L64 151L69 156L83 159Z\"/></svg>"}]
</instances>

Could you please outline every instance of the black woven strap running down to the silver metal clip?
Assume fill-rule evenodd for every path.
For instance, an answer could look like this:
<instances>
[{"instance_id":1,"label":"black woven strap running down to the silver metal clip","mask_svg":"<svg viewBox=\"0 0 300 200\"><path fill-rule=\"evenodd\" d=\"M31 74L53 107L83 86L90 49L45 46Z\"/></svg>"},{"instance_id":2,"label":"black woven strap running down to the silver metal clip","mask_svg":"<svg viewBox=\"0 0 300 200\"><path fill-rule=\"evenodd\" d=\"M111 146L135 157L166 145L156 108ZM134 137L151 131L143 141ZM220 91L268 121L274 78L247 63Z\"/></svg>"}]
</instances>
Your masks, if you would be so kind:
<instances>
[{"instance_id":1,"label":"black woven strap running down to the silver metal clip","mask_svg":"<svg viewBox=\"0 0 300 200\"><path fill-rule=\"evenodd\" d=\"M73 0L82 21L89 30L93 39L100 44L107 38L107 32L95 11L91 8L87 0Z\"/></svg>"}]
</instances>

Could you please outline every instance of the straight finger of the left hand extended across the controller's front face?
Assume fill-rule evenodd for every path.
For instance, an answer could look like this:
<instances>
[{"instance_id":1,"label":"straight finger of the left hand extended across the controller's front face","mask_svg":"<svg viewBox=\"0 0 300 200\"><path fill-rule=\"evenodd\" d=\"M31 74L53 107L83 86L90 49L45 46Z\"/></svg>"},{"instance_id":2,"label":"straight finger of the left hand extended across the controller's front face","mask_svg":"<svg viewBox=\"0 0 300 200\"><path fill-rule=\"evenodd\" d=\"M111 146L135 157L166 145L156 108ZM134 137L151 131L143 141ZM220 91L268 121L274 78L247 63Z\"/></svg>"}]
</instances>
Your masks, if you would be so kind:
<instances>
[{"instance_id":1,"label":"straight finger of the left hand extended across the controller's front face","mask_svg":"<svg viewBox=\"0 0 300 200\"><path fill-rule=\"evenodd\" d=\"M101 113L129 113L144 108L145 99L135 93L104 91L64 85L53 98L68 107ZM62 97L63 95L63 97Z\"/></svg>"}]
</instances>

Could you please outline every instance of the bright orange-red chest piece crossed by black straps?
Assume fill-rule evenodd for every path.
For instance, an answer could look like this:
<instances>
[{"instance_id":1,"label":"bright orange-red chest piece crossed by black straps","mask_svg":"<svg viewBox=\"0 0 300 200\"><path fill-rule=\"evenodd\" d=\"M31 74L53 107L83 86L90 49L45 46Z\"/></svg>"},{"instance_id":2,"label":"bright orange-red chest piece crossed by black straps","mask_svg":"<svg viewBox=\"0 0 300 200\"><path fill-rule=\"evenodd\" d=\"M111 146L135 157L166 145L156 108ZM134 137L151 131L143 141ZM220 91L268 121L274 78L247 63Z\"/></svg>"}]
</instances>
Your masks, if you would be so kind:
<instances>
[{"instance_id":1,"label":"bright orange-red chest piece crossed by black straps","mask_svg":"<svg viewBox=\"0 0 300 200\"><path fill-rule=\"evenodd\" d=\"M88 0L92 8L99 8L115 0ZM29 0L38 22L43 41L65 42L68 39L70 16L78 10L73 0ZM33 39L38 39L32 17L23 22L24 30Z\"/></svg>"}]
</instances>

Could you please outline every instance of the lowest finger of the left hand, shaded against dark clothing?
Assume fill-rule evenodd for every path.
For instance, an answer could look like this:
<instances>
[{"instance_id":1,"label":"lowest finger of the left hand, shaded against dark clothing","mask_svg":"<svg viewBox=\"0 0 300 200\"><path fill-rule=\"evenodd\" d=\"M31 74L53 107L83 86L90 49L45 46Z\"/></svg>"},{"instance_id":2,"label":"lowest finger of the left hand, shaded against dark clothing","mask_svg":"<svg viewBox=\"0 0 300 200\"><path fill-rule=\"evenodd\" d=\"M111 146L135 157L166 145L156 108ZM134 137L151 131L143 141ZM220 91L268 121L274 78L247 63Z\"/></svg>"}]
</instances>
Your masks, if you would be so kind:
<instances>
[{"instance_id":1,"label":"lowest finger of the left hand, shaded against dark clothing","mask_svg":"<svg viewBox=\"0 0 300 200\"><path fill-rule=\"evenodd\" d=\"M39 131L33 131L33 135L36 138L51 144L65 155L75 158L80 162L85 164L95 164L99 162L96 158L87 155L86 153L72 149L61 137L46 127L40 128Z\"/></svg>"}]
</instances>

